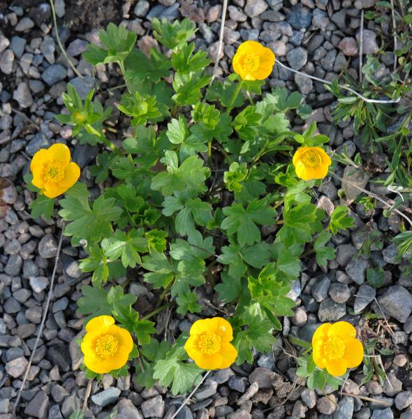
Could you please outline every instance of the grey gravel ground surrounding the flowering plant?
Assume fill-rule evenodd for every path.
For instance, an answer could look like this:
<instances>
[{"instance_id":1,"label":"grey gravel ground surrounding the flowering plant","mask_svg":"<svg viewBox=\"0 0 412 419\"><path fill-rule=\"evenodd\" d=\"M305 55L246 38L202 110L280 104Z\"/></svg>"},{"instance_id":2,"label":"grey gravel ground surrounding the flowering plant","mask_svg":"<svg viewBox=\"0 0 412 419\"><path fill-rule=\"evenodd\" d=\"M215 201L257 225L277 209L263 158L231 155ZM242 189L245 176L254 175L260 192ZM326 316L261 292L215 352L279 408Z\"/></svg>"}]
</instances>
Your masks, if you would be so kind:
<instances>
[{"instance_id":1,"label":"grey gravel ground surrounding the flowering plant","mask_svg":"<svg viewBox=\"0 0 412 419\"><path fill-rule=\"evenodd\" d=\"M0 0L0 177L14 183L6 190L8 214L6 219L0 220L0 419L12 417L10 412L41 323L60 235L56 220L32 220L29 216L28 205L34 195L25 188L22 176L29 171L31 156L41 147L48 147L57 139L75 144L71 128L58 124L54 115L61 111L60 95L68 81L82 94L94 84L91 66L81 58L85 45L96 40L99 25L112 20L124 21L129 29L137 32L138 44L145 48L154 42L149 34L149 21L153 17L186 16L199 25L197 46L212 55L217 49L219 1L100 2L108 6L107 9L94 9L99 2L89 1L87 10L93 13L85 15L83 21L78 15L73 24L79 3L84 2L66 0L65 4L65 0L56 0L56 9L62 41L78 71L84 75L83 80L75 76L61 56L51 29L48 3ZM296 70L327 80L336 78L342 71L358 78L361 10L373 8L374 3L374 0L230 1L219 70L226 75L238 43L253 39L271 47L277 59ZM100 11L94 13L94 10ZM363 53L374 53L380 48L381 36L390 36L390 29L384 22L376 27L374 22L365 21L363 34ZM380 57L388 67L386 71L390 71L392 53L385 52ZM102 90L111 86L113 79L108 82L109 74L114 74L110 67L96 74ZM344 170L337 166L337 175L386 198L394 198L390 191L371 182L387 176L385 155L369 155L353 134L351 123L332 124L334 98L323 84L282 68L274 69L269 84L299 90L314 108L306 124L315 120L319 131L330 136L334 149L339 152L346 146L349 156L361 152L365 160L376 167L372 176L363 170ZM297 130L301 128L295 126ZM76 145L73 158L84 169L97 152L96 147ZM87 175L84 181L94 186ZM339 205L339 189L339 181L325 179L318 189L319 205L328 212ZM356 193L348 186L344 189L346 203L353 203ZM405 206L410 205L405 203ZM409 367L412 275L406 260L395 261L396 249L390 244L390 237L399 231L399 217L394 214L385 218L379 205L372 211L360 204L351 205L351 209L355 228L332 240L337 249L336 260L330 261L328 269L318 267L314 259L307 260L300 280L293 284L292 297L297 302L295 316L284 319L284 330L273 353L256 354L253 367L233 366L209 376L178 418L412 418ZM379 236L371 244L370 258L356 258L360 249L365 249L365 240L371 232ZM87 378L80 370L81 358L75 342L82 330L82 318L75 309L80 286L90 281L78 268L78 259L82 257L81 249L74 249L69 240L64 240L41 345L17 409L21 418L67 419L82 403ZM369 286L368 267L383 268L382 288L375 290ZM128 292L140 297L140 311L152 309L151 288L133 283ZM200 290L200 296L201 293ZM388 316L393 332L385 321L365 318L365 312L380 313L381 309ZM364 314L360 315L362 310ZM381 347L393 351L392 355L382 356L387 374L384 385L376 376L361 385L363 375L358 369L346 381L343 393L332 393L326 388L325 394L321 394L308 390L304 381L295 375L293 358L286 355L292 349L284 337L311 339L319 322L339 319L358 324L362 337L377 337ZM193 320L194 316L173 315L169 332L178 335L188 330ZM376 335L378 329L380 332ZM182 398L172 398L165 388L142 389L133 381L133 375L117 381L104 376L101 383L93 385L87 415L105 418L117 409L115 418L119 419L170 418L181 402Z\"/></svg>"}]
</instances>

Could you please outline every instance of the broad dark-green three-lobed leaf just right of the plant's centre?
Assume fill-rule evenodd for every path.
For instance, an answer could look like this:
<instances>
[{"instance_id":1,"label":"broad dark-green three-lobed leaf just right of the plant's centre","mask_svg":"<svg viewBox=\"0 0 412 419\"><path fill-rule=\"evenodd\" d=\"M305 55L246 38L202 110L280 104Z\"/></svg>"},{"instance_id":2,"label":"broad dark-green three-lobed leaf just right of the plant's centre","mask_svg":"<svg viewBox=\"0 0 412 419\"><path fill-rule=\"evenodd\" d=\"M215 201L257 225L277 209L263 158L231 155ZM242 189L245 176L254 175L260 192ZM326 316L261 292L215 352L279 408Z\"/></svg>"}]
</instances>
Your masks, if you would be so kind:
<instances>
[{"instance_id":1,"label":"broad dark-green three-lobed leaf just right of the plant's centre","mask_svg":"<svg viewBox=\"0 0 412 419\"><path fill-rule=\"evenodd\" d=\"M260 242L260 230L256 223L268 226L274 223L276 212L267 204L266 199L253 200L246 210L240 204L233 203L230 207L223 208L226 218L221 223L221 228L228 234L237 233L237 241L241 246Z\"/></svg>"}]
</instances>

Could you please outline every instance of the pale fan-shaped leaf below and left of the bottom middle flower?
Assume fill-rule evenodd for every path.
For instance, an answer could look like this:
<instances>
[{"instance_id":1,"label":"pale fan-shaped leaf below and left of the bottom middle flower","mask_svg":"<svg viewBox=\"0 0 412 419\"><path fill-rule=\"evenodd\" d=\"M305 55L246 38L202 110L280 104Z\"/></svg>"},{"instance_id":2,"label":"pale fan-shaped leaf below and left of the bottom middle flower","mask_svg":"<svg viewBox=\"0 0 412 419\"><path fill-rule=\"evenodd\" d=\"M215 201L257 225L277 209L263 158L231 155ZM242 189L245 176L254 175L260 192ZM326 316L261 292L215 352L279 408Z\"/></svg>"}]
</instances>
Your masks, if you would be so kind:
<instances>
[{"instance_id":1,"label":"pale fan-shaped leaf below and left of the bottom middle flower","mask_svg":"<svg viewBox=\"0 0 412 419\"><path fill-rule=\"evenodd\" d=\"M172 395L184 394L191 390L203 372L196 364L185 362L186 360L184 349L177 348L169 353L167 358L158 360L154 366L153 378L165 387L171 384Z\"/></svg>"}]
</instances>

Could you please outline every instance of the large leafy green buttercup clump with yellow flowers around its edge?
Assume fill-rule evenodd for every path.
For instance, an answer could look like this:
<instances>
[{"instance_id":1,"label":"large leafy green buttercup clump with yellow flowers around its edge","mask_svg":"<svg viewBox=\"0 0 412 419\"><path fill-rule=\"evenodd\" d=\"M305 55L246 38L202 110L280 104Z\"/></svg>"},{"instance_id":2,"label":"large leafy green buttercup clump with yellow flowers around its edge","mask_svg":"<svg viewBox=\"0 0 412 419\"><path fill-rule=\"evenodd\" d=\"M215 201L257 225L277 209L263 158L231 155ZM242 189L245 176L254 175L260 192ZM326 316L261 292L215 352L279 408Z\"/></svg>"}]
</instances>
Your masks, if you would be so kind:
<instances>
[{"instance_id":1,"label":"large leafy green buttercup clump with yellow flowers around its edge","mask_svg":"<svg viewBox=\"0 0 412 419\"><path fill-rule=\"evenodd\" d=\"M235 73L209 85L210 60L190 42L194 24L152 24L161 47L148 55L135 47L135 34L115 24L100 31L103 46L83 54L94 66L116 68L125 87L121 80L82 100L68 84L63 95L66 112L57 119L73 126L80 144L101 145L96 165L75 183L80 171L67 147L54 145L34 157L27 182L39 192L31 205L36 216L52 216L54 198L65 193L64 234L87 253L80 269L90 272L91 285L78 300L88 316L80 342L87 376L127 374L128 360L138 358L131 365L140 385L158 381L176 395L199 383L205 369L270 352L279 317L293 315L290 284L301 259L314 253L328 265L332 234L353 220L344 206L328 219L313 203L312 188L331 164L322 148L329 139L314 122L290 131L286 112L310 114L302 95L279 87L262 92L275 61L270 49L243 43ZM108 97L117 99L125 128L117 135L106 124ZM100 195L87 189L89 176ZM127 293L135 281L158 297L152 312L135 309L137 297ZM203 296L226 319L202 320ZM190 313L190 334L158 340L152 320L163 309Z\"/></svg>"}]
</instances>

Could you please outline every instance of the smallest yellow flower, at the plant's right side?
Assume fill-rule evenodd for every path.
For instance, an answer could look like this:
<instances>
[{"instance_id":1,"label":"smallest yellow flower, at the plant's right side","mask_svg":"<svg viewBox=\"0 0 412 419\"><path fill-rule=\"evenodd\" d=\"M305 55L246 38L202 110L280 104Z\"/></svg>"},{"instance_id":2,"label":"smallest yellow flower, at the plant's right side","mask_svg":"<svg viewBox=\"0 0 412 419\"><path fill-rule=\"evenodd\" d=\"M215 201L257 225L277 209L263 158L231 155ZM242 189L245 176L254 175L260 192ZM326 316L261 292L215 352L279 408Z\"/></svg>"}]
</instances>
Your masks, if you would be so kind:
<instances>
[{"instance_id":1,"label":"smallest yellow flower, at the plant's right side","mask_svg":"<svg viewBox=\"0 0 412 419\"><path fill-rule=\"evenodd\" d=\"M300 147L293 155L293 166L300 179L323 179L332 161L321 147Z\"/></svg>"}]
</instances>

